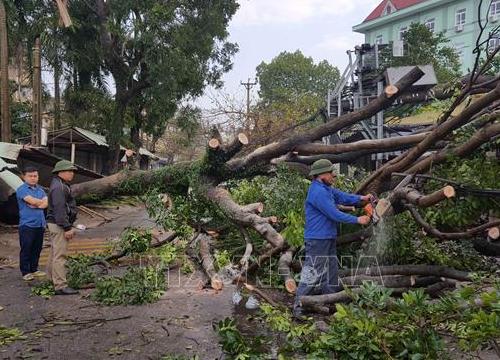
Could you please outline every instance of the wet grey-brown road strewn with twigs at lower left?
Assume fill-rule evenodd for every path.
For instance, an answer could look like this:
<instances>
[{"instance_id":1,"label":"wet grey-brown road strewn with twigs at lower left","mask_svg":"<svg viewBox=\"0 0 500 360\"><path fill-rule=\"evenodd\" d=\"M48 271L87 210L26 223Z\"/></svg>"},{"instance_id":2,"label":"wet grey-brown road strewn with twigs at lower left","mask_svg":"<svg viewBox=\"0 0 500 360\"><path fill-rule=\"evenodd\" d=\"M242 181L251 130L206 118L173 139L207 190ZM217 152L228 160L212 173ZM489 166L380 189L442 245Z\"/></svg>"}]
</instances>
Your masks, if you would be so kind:
<instances>
[{"instance_id":1,"label":"wet grey-brown road strewn with twigs at lower left","mask_svg":"<svg viewBox=\"0 0 500 360\"><path fill-rule=\"evenodd\" d=\"M77 223L87 230L70 243L70 253L102 251L128 226L154 226L142 207L98 211L113 221L104 224L81 215ZM26 336L0 347L0 359L160 359L179 354L222 358L212 327L233 316L232 286L221 292L202 289L200 272L186 276L171 270L168 290L154 304L100 306L87 299L92 290L46 300L31 295L20 277L17 229L2 229L0 242L0 326L17 327ZM42 263L47 251L42 252Z\"/></svg>"}]
</instances>

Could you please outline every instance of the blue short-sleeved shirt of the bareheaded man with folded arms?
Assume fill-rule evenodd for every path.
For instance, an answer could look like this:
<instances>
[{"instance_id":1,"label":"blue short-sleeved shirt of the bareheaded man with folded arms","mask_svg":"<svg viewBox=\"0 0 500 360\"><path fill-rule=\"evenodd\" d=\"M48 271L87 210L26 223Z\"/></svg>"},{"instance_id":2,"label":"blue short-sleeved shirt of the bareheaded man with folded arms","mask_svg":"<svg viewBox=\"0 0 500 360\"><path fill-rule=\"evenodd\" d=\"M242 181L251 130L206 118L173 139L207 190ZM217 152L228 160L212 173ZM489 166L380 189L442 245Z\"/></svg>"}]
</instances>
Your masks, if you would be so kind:
<instances>
[{"instance_id":1,"label":"blue short-sleeved shirt of the bareheaded man with folded arms","mask_svg":"<svg viewBox=\"0 0 500 360\"><path fill-rule=\"evenodd\" d=\"M24 198L26 196L34 197L35 199L43 199L47 197L45 191L38 186L30 186L26 183L19 186L16 190L17 203L19 205L19 226L28 226L31 228L45 227L45 213L43 209L32 208L28 205Z\"/></svg>"}]
</instances>

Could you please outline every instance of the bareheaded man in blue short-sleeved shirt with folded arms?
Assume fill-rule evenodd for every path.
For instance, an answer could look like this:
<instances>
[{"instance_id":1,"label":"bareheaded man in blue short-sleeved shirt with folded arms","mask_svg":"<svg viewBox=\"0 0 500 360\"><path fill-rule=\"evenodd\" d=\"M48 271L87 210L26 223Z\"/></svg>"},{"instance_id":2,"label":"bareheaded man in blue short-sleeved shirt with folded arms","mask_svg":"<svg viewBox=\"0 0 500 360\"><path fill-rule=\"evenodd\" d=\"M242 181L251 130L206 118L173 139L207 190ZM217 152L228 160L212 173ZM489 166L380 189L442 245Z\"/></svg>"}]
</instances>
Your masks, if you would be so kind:
<instances>
[{"instance_id":1,"label":"bareheaded man in blue short-sleeved shirt with folded arms","mask_svg":"<svg viewBox=\"0 0 500 360\"><path fill-rule=\"evenodd\" d=\"M24 184L16 190L19 205L19 267L26 281L45 276L38 270L38 260L42 252L43 234L45 232L45 214L47 195L38 185L38 170L26 167L23 170Z\"/></svg>"}]
</instances>

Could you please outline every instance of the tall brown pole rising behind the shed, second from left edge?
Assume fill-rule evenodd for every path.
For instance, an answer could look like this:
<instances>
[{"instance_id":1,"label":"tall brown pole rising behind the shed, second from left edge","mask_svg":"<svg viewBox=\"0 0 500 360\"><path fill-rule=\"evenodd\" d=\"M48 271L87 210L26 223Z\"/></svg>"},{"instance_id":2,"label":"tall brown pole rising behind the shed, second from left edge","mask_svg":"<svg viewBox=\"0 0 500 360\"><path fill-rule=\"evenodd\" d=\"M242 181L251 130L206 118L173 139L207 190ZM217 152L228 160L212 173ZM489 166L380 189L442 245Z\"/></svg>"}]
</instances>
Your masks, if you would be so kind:
<instances>
[{"instance_id":1,"label":"tall brown pole rising behind the shed, second from left edge","mask_svg":"<svg viewBox=\"0 0 500 360\"><path fill-rule=\"evenodd\" d=\"M40 146L42 137L42 69L40 37L33 47L33 119L31 123L31 145Z\"/></svg>"}]
</instances>

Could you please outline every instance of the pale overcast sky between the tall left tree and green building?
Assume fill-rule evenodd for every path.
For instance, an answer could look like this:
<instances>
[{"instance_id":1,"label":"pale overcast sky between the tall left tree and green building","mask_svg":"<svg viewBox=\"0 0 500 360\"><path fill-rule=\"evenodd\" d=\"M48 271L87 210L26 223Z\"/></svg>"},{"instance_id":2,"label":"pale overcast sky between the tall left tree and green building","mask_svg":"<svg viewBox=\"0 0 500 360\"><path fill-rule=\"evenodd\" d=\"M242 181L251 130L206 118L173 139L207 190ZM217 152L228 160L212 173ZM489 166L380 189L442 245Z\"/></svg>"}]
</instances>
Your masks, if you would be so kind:
<instances>
[{"instance_id":1,"label":"pale overcast sky between the tall left tree and green building","mask_svg":"<svg viewBox=\"0 0 500 360\"><path fill-rule=\"evenodd\" d=\"M231 42L239 45L233 70L224 76L224 92L243 100L241 80L255 77L255 68L282 51L301 50L315 62L323 59L342 73L346 50L363 42L352 26L362 22L381 0L239 0L229 26ZM212 90L207 93L213 95ZM254 94L255 98L255 94ZM208 108L211 101L198 101Z\"/></svg>"}]
</instances>

